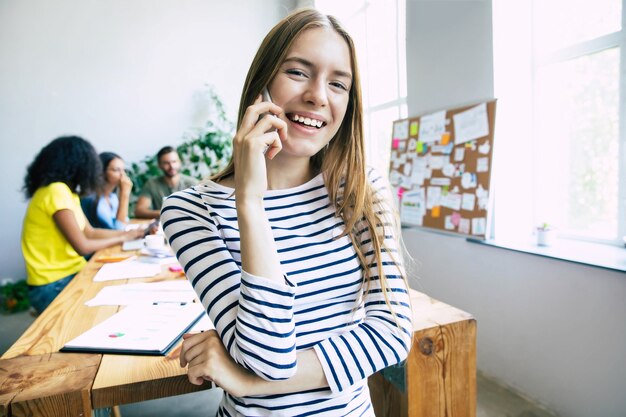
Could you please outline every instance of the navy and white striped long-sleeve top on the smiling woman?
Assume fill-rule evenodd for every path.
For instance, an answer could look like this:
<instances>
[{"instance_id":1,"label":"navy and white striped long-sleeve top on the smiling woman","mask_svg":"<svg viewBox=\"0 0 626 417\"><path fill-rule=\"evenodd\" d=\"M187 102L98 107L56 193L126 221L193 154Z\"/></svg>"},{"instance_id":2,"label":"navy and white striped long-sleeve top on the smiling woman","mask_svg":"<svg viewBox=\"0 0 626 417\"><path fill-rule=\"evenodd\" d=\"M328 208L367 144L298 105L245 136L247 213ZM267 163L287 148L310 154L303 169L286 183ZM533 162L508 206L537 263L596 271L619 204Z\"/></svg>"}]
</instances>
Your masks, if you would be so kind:
<instances>
[{"instance_id":1,"label":"navy and white striped long-sleeve top on the smiling woman","mask_svg":"<svg viewBox=\"0 0 626 417\"><path fill-rule=\"evenodd\" d=\"M373 171L368 176L379 196L388 195L381 177ZM241 270L232 194L206 182L170 196L161 212L170 245L237 363L267 380L286 379L296 372L296 352L312 348L330 388L263 397L226 394L218 415L373 415L367 377L406 358L412 331L392 228L385 228L383 268L395 318L375 265L369 291L360 296L363 272L350 239L337 238L344 224L321 174L265 194L284 283ZM373 264L370 231L361 230L358 239Z\"/></svg>"}]
</instances>

